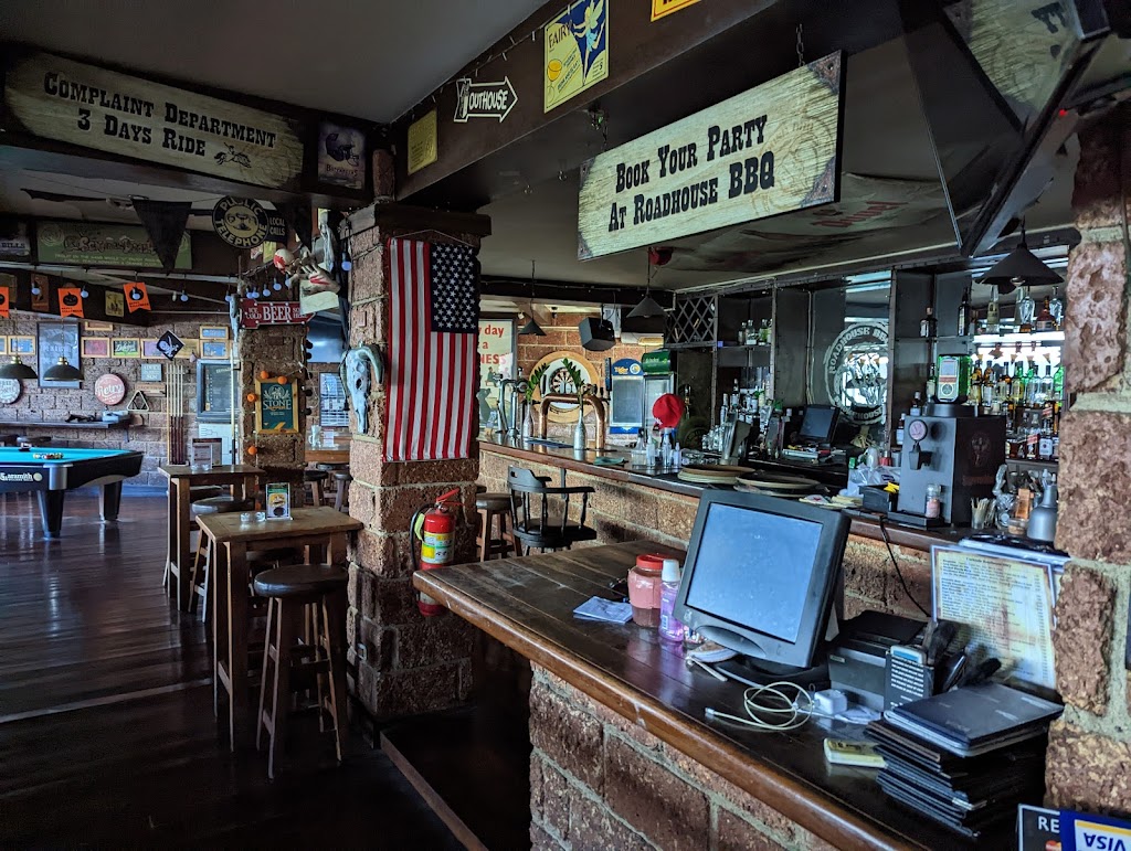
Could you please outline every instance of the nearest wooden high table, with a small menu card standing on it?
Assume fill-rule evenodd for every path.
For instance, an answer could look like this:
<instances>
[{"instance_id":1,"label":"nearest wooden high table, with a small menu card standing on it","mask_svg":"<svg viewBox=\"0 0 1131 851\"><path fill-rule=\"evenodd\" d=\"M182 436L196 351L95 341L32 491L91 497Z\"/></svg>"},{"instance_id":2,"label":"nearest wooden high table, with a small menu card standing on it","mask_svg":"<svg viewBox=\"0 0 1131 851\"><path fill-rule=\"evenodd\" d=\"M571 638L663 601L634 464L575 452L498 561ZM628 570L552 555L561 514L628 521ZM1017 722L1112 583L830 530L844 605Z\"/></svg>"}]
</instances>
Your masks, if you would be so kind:
<instances>
[{"instance_id":1,"label":"nearest wooden high table, with a small menu card standing on it","mask_svg":"<svg viewBox=\"0 0 1131 851\"><path fill-rule=\"evenodd\" d=\"M362 528L359 520L329 506L294 509L288 520L243 522L239 514L197 518L200 533L211 541L216 564L211 571L216 710L219 688L228 694L228 732L232 749L244 740L248 700L248 599L251 572L248 550L307 549L310 564L344 564L346 536Z\"/></svg>"}]
</instances>

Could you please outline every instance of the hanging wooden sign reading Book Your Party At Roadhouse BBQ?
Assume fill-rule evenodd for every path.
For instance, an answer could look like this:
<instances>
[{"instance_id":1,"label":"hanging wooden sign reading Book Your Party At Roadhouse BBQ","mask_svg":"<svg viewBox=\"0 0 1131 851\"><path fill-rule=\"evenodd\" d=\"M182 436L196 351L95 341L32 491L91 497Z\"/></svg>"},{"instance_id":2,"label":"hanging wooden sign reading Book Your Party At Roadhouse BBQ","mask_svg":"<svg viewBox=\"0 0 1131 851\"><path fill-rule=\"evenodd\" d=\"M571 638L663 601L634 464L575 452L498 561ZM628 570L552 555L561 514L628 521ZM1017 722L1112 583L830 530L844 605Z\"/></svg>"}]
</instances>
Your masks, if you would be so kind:
<instances>
[{"instance_id":1,"label":"hanging wooden sign reading Book Your Party At Roadhouse BBQ","mask_svg":"<svg viewBox=\"0 0 1131 851\"><path fill-rule=\"evenodd\" d=\"M578 258L837 200L841 68L834 53L582 164Z\"/></svg>"}]
</instances>

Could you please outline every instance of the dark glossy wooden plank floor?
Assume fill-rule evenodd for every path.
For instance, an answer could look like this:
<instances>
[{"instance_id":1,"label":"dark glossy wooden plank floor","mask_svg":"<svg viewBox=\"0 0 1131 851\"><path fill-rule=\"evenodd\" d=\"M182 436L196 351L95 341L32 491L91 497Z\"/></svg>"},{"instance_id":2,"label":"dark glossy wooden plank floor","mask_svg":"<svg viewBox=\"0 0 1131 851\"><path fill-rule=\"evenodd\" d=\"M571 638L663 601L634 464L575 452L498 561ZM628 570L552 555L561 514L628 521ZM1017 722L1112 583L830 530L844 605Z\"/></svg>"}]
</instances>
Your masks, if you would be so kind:
<instances>
[{"instance_id":1,"label":"dark glossy wooden plank floor","mask_svg":"<svg viewBox=\"0 0 1131 851\"><path fill-rule=\"evenodd\" d=\"M44 541L33 498L0 495L0 848L458 848L359 737L339 767L295 730L274 783L213 718L207 634L161 587L163 497L104 526L68 494Z\"/></svg>"}]
</instances>

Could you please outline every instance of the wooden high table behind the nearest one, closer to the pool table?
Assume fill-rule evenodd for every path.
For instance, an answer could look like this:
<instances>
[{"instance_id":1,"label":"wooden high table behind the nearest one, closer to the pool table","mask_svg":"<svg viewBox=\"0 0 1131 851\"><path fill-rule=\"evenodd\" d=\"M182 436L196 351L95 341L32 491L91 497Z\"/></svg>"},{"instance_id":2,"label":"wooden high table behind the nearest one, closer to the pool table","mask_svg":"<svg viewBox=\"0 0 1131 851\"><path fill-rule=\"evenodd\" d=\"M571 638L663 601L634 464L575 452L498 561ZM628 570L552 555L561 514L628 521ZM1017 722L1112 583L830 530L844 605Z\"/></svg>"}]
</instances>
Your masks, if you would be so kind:
<instances>
[{"instance_id":1,"label":"wooden high table behind the nearest one, closer to the pool table","mask_svg":"<svg viewBox=\"0 0 1131 851\"><path fill-rule=\"evenodd\" d=\"M249 464L224 464L196 470L189 464L162 464L161 471L169 479L169 554L165 564L170 582L173 578L176 579L176 608L188 611L189 600L195 593L191 588L192 547L189 540L192 487L221 485L233 488L236 500L248 500L256 495L259 477L264 471Z\"/></svg>"}]
</instances>

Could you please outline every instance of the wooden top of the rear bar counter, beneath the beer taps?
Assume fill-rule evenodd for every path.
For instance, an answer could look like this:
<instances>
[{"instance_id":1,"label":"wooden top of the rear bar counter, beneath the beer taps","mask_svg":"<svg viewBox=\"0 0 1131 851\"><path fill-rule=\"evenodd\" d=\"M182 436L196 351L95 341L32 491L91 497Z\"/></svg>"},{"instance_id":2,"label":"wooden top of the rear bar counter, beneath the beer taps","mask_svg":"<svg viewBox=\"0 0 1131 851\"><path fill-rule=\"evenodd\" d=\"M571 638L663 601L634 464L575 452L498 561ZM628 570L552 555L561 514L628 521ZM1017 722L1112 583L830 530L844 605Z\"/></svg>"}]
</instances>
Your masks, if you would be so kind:
<instances>
[{"instance_id":1,"label":"wooden top of the rear bar counter, beneath the beer taps","mask_svg":"<svg viewBox=\"0 0 1131 851\"><path fill-rule=\"evenodd\" d=\"M707 485L681 481L674 472L649 474L629 469L629 453L621 449L607 448L599 451L593 449L578 451L571 448L549 446L517 438L491 437L480 440L480 451L495 452L497 454L513 458L518 461L550 464L552 467L560 467L562 470L584 472L611 481L650 487L670 494L692 496L697 500L708 487ZM598 455L624 458L625 461L620 466L606 467L595 463ZM778 468L776 471L780 472L782 470ZM803 476L804 470L797 470L797 475ZM718 488L717 485L711 487ZM863 513L849 512L849 516L851 526L848 531L851 535L871 540L883 540L884 536L887 536L888 541L891 544L924 552L930 550L935 545L955 544L974 531L962 528L916 529L914 527L899 526L888 520L881 523L878 515L864 515Z\"/></svg>"}]
</instances>

